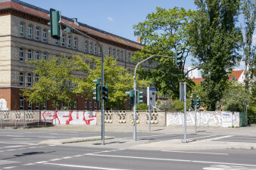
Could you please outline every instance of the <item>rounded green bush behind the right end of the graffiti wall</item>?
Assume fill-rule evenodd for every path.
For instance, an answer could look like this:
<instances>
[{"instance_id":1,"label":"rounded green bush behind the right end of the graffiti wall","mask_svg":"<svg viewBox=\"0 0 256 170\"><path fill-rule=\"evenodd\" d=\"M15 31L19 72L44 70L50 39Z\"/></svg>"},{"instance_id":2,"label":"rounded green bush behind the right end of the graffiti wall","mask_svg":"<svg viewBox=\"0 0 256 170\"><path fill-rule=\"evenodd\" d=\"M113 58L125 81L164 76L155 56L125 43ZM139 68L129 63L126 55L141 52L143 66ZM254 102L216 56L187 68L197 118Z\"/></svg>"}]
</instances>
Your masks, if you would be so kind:
<instances>
[{"instance_id":1,"label":"rounded green bush behind the right end of the graffiti wall","mask_svg":"<svg viewBox=\"0 0 256 170\"><path fill-rule=\"evenodd\" d=\"M228 88L226 88L223 98L220 100L220 104L223 104L223 109L233 112L245 112L246 106L250 101L250 94L238 82L229 82L228 84Z\"/></svg>"}]
</instances>

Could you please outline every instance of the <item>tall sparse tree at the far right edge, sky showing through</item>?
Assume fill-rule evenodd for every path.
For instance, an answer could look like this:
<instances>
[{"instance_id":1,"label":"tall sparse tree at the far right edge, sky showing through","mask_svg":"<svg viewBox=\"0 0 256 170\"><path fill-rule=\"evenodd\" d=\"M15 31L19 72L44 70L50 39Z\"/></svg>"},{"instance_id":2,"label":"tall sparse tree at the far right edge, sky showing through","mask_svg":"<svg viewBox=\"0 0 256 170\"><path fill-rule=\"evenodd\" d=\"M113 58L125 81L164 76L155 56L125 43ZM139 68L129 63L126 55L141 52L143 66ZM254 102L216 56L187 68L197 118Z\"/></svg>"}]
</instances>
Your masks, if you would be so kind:
<instances>
[{"instance_id":1,"label":"tall sparse tree at the far right edge, sky showing through","mask_svg":"<svg viewBox=\"0 0 256 170\"><path fill-rule=\"evenodd\" d=\"M253 0L242 1L242 14L244 17L244 59L245 59L245 89L249 88L249 79L254 79L254 48L252 36L255 29L256 2Z\"/></svg>"}]
</instances>

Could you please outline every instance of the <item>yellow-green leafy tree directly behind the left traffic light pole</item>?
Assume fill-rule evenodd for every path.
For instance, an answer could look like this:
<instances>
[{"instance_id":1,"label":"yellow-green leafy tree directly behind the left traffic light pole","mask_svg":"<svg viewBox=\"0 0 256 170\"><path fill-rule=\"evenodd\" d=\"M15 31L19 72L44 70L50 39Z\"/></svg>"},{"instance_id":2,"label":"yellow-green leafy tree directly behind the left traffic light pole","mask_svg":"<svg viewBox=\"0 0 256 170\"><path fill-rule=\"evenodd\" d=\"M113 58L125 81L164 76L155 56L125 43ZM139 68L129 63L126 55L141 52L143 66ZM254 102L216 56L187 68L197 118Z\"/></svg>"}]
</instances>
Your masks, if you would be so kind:
<instances>
[{"instance_id":1,"label":"yellow-green leafy tree directly behind the left traffic light pole","mask_svg":"<svg viewBox=\"0 0 256 170\"><path fill-rule=\"evenodd\" d=\"M76 90L78 94L81 91L86 91L91 96L95 86L92 81L101 78L101 58L90 57L90 60L93 60L93 64L89 68L86 68L86 63L83 63L83 67L88 70L88 76L78 83ZM133 74L128 73L123 66L117 66L117 60L113 56L106 56L104 75L104 84L108 85L109 94L109 101L105 103L105 106L107 109L123 109L123 103L127 100L125 91L133 89ZM147 81L138 79L139 88L145 88L147 85Z\"/></svg>"}]
</instances>

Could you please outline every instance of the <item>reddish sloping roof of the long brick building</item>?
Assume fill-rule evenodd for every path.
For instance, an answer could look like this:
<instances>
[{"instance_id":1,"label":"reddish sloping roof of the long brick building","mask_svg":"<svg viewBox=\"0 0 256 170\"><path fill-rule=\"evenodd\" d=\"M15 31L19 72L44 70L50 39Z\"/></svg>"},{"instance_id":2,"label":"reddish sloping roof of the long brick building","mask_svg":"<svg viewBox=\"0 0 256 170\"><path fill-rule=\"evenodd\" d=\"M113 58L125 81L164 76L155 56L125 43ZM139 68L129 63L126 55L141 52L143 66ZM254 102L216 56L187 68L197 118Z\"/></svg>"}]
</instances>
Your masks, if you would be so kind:
<instances>
[{"instance_id":1,"label":"reddish sloping roof of the long brick building","mask_svg":"<svg viewBox=\"0 0 256 170\"><path fill-rule=\"evenodd\" d=\"M19 0L0 0L0 10L7 9L7 8L12 8L17 11L22 11L24 13L31 14L36 17L42 17L46 20L50 19L48 17L49 11L39 8L39 7L36 7L34 5L27 4L26 2L21 2ZM80 31L87 32L90 35L98 36L103 39L108 39L112 42L118 42L120 44L127 45L127 46L130 46L133 48L142 49L141 44L139 44L137 42L133 42L132 40L125 39L120 36L116 36L110 32L105 32L104 30L97 29L97 28L95 28L93 26L89 26L85 23L78 22L79 26L77 26L73 22L73 19L69 18L69 17L61 16L61 19L62 19L61 20L62 22L66 23L70 26L73 26L74 28L79 29Z\"/></svg>"}]
</instances>

